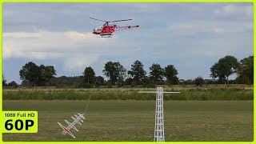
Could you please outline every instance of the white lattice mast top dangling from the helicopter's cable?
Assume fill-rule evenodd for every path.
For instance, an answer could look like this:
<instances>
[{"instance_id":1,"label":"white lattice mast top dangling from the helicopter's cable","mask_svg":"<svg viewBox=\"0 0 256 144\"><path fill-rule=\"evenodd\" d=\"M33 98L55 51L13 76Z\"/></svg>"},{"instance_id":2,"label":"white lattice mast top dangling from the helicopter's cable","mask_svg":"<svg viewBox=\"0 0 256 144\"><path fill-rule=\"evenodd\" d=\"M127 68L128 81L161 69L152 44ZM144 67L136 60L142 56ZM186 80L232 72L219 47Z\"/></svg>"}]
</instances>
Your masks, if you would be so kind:
<instances>
[{"instance_id":1,"label":"white lattice mast top dangling from the helicopter's cable","mask_svg":"<svg viewBox=\"0 0 256 144\"><path fill-rule=\"evenodd\" d=\"M61 126L62 127L62 129L63 129L63 131L62 131L62 134L70 134L70 136L71 137L73 137L73 138L75 138L74 137L74 134L72 134L71 132L70 132L70 130L71 129L74 129L74 130L76 130L76 131L78 131L78 129L74 126L75 124L79 124L79 125L82 125L82 123L81 122L83 122L83 120L82 119L86 119L84 116L83 116L84 114L79 114L78 113L78 115L76 115L76 114L74 114L74 117L71 117L74 121L73 122L68 122L66 119L65 119L65 122L68 124L68 126L67 127L65 127L65 126L63 126L60 122L58 122L58 125L59 126Z\"/></svg>"}]
</instances>

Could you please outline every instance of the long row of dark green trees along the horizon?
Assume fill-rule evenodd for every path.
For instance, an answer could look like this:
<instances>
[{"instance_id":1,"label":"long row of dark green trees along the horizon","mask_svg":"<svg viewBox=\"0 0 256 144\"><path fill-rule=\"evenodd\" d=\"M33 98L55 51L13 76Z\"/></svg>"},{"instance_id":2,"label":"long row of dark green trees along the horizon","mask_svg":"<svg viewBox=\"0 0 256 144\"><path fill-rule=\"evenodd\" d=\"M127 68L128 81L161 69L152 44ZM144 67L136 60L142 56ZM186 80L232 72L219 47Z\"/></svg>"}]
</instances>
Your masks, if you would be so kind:
<instances>
[{"instance_id":1,"label":"long row of dark green trees along the horizon","mask_svg":"<svg viewBox=\"0 0 256 144\"><path fill-rule=\"evenodd\" d=\"M120 62L106 62L102 73L108 78L96 76L92 67L86 67L81 76L58 77L54 66L37 66L34 62L28 62L19 71L22 79L22 86L58 86L58 87L94 87L94 86L141 86L154 87L155 85L197 85L215 83L241 83L253 84L254 82L254 56L243 58L238 61L234 56L227 55L220 58L210 67L210 77L214 79L203 79L198 76L194 79L179 79L178 70L174 65L160 66L153 63L150 71L144 70L142 62L136 60L130 70L126 70ZM188 70L189 73L189 70ZM230 80L231 74L236 74L237 78ZM18 86L16 82L6 83L2 78L3 86ZM15 84L16 83L16 84Z\"/></svg>"}]
</instances>

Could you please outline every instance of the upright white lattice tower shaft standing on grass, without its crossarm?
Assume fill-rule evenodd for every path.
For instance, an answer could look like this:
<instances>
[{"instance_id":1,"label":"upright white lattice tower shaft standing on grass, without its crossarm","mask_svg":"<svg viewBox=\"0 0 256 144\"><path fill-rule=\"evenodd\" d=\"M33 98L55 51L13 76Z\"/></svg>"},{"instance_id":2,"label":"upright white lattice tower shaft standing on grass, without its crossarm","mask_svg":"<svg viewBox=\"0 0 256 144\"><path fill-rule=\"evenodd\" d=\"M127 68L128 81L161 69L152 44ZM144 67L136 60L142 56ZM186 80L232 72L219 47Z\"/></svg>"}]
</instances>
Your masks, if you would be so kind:
<instances>
[{"instance_id":1,"label":"upright white lattice tower shaft standing on grass, without its crossarm","mask_svg":"<svg viewBox=\"0 0 256 144\"><path fill-rule=\"evenodd\" d=\"M162 87L157 87L155 102L154 142L165 142Z\"/></svg>"}]
</instances>

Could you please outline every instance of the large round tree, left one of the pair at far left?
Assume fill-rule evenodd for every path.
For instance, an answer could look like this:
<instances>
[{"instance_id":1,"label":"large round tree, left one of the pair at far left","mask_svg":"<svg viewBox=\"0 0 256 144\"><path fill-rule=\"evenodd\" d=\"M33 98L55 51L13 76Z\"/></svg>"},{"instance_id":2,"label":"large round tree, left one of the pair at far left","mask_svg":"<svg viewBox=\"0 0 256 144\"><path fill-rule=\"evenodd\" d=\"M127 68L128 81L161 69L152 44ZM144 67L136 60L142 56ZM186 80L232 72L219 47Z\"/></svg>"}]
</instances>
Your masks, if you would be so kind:
<instances>
[{"instance_id":1,"label":"large round tree, left one of the pair at far left","mask_svg":"<svg viewBox=\"0 0 256 144\"><path fill-rule=\"evenodd\" d=\"M40 67L34 62L28 62L25 66L22 66L22 70L19 71L19 75L22 80L29 81L30 86L32 86L32 84L36 86L40 78Z\"/></svg>"}]
</instances>

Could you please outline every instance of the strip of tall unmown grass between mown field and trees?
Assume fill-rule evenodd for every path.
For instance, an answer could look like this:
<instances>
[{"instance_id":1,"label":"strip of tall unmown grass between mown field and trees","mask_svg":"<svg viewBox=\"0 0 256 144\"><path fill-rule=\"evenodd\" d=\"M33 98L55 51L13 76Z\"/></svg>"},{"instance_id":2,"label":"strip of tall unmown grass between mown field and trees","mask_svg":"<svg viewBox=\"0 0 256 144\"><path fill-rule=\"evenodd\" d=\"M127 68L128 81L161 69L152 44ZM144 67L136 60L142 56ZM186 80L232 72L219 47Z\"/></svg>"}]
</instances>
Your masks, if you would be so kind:
<instances>
[{"instance_id":1,"label":"strip of tall unmown grass between mown field and trees","mask_svg":"<svg viewBox=\"0 0 256 144\"><path fill-rule=\"evenodd\" d=\"M85 89L85 90L3 90L4 100L154 100L155 94L139 94L147 89ZM155 89L149 89L154 90ZM176 91L165 89L166 91ZM254 90L238 88L194 88L165 94L165 100L253 100Z\"/></svg>"}]
</instances>

